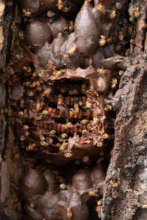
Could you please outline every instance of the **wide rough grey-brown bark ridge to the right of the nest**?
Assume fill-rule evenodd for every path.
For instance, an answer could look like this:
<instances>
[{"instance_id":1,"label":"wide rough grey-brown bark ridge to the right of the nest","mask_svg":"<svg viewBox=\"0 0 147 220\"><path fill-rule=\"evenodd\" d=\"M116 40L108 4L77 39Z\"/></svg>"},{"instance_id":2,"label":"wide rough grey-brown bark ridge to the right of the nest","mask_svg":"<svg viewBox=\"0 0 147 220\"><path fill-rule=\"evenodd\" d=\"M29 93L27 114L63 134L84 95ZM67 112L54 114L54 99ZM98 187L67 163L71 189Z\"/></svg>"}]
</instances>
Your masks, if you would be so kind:
<instances>
[{"instance_id":1,"label":"wide rough grey-brown bark ridge to the right of the nest","mask_svg":"<svg viewBox=\"0 0 147 220\"><path fill-rule=\"evenodd\" d=\"M139 6L139 1L132 1L130 17L137 7L133 57L113 103L115 143L105 180L102 220L147 219L147 2Z\"/></svg>"}]
</instances>

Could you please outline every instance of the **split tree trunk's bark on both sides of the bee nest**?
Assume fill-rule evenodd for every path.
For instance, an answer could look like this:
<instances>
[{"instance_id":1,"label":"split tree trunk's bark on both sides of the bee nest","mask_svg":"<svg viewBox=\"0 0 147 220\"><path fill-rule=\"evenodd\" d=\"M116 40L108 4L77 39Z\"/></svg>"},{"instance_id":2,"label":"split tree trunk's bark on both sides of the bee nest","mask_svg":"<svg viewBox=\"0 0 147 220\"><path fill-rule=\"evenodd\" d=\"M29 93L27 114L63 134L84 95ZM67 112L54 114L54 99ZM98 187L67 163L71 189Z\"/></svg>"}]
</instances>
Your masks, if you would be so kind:
<instances>
[{"instance_id":1,"label":"split tree trunk's bark on both sides of the bee nest","mask_svg":"<svg viewBox=\"0 0 147 220\"><path fill-rule=\"evenodd\" d=\"M116 112L114 148L105 178L99 213L101 220L147 219L147 2L129 2L132 32L128 42L129 52L123 63L125 72L121 76L112 103ZM5 4L0 1L3 24L0 27L1 72L9 62L9 52L13 44L10 27L15 18L15 7L14 5L11 10L6 10L5 13L9 15L6 18ZM7 84L1 82L0 96L0 109L6 108ZM0 152L3 153L5 145L7 150L5 159L1 158L0 163L0 215L3 220L7 219L7 216L17 220L21 218L22 208L18 190L15 191L14 188L17 188L22 176L21 155L18 155L13 131L7 123L6 115L1 114Z\"/></svg>"}]
</instances>

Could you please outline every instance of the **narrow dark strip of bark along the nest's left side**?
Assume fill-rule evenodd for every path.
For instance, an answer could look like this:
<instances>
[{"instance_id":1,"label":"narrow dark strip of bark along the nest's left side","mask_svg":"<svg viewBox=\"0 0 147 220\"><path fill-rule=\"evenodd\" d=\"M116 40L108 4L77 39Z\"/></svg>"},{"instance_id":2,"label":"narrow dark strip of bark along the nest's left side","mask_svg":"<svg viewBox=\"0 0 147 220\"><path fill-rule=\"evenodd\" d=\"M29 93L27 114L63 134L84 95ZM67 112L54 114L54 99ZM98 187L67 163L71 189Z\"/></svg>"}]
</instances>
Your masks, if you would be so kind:
<instances>
[{"instance_id":1,"label":"narrow dark strip of bark along the nest's left side","mask_svg":"<svg viewBox=\"0 0 147 220\"><path fill-rule=\"evenodd\" d=\"M3 68L6 67L15 31L14 2L0 0L0 78L6 77ZM8 131L9 130L9 131ZM8 158L3 158L3 152L7 148ZM14 145L14 136L7 120L7 83L0 80L0 219L18 219L18 207L16 208L17 195L12 189L13 181L18 183L20 175L20 160L14 158L17 146ZM17 156L16 156L17 157ZM15 202L14 202L15 201ZM11 216L10 218L8 216Z\"/></svg>"}]
</instances>

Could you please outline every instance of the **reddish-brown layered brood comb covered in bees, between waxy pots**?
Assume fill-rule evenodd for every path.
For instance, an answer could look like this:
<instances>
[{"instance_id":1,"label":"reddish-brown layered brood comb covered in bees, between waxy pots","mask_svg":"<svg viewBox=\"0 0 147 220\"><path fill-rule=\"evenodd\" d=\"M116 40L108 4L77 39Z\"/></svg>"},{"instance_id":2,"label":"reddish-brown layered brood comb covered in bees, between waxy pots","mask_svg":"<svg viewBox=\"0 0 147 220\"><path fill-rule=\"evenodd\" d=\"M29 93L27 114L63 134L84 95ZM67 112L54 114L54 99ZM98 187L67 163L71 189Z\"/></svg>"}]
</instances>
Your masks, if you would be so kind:
<instances>
[{"instance_id":1,"label":"reddish-brown layered brood comb covered in bees, between waxy pots","mask_svg":"<svg viewBox=\"0 0 147 220\"><path fill-rule=\"evenodd\" d=\"M18 111L19 116L16 134L20 146L40 155L59 154L65 160L80 159L92 149L92 154L98 152L107 136L102 96L84 79L48 83L38 83L35 78L32 83L24 82L21 98L13 103L12 114Z\"/></svg>"}]
</instances>

